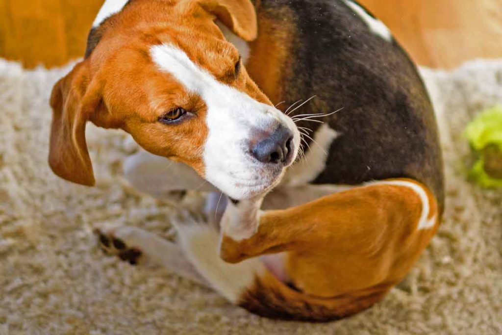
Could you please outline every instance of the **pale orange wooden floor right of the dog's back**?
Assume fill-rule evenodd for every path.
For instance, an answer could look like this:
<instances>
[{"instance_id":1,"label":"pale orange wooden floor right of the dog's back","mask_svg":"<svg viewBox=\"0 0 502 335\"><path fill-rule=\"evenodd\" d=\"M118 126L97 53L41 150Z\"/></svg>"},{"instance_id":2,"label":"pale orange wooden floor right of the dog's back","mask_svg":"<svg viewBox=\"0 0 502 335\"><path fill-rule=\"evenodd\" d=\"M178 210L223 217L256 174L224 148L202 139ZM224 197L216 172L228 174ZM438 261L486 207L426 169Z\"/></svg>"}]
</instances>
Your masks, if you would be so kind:
<instances>
[{"instance_id":1,"label":"pale orange wooden floor right of the dog's back","mask_svg":"<svg viewBox=\"0 0 502 335\"><path fill-rule=\"evenodd\" d=\"M502 57L502 0L359 0L422 65ZM385 5L384 5L385 4Z\"/></svg>"}]
</instances>

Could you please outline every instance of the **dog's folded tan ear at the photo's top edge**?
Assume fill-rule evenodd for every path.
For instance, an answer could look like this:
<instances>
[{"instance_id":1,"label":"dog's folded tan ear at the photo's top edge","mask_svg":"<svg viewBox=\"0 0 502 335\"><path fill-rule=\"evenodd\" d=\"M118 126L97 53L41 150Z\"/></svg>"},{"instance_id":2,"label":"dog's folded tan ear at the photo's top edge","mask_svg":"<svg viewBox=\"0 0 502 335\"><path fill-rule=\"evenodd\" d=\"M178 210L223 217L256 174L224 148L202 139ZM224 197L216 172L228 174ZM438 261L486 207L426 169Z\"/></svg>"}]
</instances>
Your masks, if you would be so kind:
<instances>
[{"instance_id":1,"label":"dog's folded tan ear at the photo's top edge","mask_svg":"<svg viewBox=\"0 0 502 335\"><path fill-rule=\"evenodd\" d=\"M235 35L245 41L258 36L255 6L250 0L192 0L216 16Z\"/></svg>"}]
</instances>

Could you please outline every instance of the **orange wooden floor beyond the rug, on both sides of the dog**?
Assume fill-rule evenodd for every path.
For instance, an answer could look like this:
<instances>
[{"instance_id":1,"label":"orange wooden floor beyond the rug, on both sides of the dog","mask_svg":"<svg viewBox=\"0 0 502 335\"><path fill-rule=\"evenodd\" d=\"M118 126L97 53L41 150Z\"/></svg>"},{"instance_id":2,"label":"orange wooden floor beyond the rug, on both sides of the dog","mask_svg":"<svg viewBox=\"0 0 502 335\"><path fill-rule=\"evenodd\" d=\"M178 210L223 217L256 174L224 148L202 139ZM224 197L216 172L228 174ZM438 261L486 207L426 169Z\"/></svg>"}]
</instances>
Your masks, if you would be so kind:
<instances>
[{"instance_id":1,"label":"orange wooden floor beyond the rug, on both sides of the dog","mask_svg":"<svg viewBox=\"0 0 502 335\"><path fill-rule=\"evenodd\" d=\"M103 0L0 0L0 57L26 67L81 57ZM502 57L502 0L359 0L419 64Z\"/></svg>"}]
</instances>

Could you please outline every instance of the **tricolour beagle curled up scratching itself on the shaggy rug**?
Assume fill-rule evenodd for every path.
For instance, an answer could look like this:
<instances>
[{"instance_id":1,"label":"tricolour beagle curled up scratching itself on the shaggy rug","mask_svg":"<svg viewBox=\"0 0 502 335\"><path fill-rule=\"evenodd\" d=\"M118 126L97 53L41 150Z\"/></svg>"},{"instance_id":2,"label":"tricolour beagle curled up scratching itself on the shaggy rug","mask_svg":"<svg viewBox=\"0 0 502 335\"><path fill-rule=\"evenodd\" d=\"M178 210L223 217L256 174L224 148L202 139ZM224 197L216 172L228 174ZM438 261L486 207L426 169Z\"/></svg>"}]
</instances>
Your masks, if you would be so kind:
<instances>
[{"instance_id":1,"label":"tricolour beagle curled up scratching itself on the shaggy rug","mask_svg":"<svg viewBox=\"0 0 502 335\"><path fill-rule=\"evenodd\" d=\"M49 164L93 185L88 121L129 133L133 185L221 192L218 225L173 218L177 243L98 230L267 317L339 319L382 300L443 211L435 116L415 65L353 0L106 0L59 80ZM218 195L220 193L217 193Z\"/></svg>"}]
</instances>

